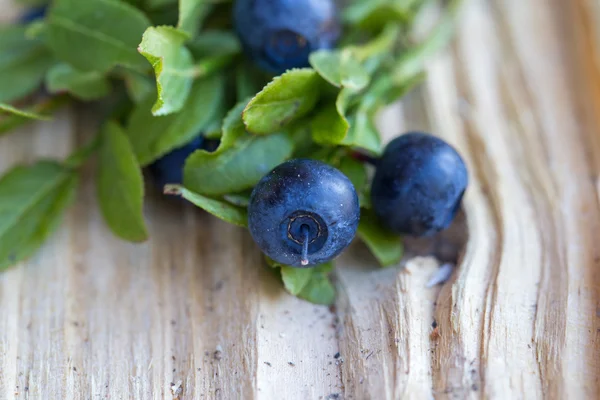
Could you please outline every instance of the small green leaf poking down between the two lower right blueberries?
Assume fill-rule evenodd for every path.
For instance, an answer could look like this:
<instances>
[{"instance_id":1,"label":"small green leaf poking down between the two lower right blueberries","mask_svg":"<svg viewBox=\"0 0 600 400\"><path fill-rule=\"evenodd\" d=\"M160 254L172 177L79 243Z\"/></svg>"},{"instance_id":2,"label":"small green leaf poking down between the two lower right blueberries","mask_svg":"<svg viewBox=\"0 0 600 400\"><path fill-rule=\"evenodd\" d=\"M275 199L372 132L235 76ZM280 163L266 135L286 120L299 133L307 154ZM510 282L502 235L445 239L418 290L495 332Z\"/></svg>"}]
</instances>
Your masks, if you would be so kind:
<instances>
[{"instance_id":1,"label":"small green leaf poking down between the two lower right blueberries","mask_svg":"<svg viewBox=\"0 0 600 400\"><path fill-rule=\"evenodd\" d=\"M372 211L362 210L357 235L382 267L397 264L402 258L402 238L382 227Z\"/></svg>"}]
</instances>

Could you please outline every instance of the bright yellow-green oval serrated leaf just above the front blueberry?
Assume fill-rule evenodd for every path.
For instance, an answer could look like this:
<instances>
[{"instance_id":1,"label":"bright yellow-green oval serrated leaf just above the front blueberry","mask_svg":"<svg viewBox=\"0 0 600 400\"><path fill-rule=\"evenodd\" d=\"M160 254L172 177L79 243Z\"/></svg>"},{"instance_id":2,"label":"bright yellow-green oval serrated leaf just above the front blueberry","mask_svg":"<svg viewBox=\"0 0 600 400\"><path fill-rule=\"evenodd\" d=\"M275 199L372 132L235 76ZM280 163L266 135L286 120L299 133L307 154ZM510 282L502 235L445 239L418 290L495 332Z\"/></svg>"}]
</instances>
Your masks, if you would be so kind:
<instances>
[{"instance_id":1,"label":"bright yellow-green oval serrated leaf just above the front blueberry","mask_svg":"<svg viewBox=\"0 0 600 400\"><path fill-rule=\"evenodd\" d=\"M309 113L319 98L319 75L312 69L293 69L273 79L244 110L248 131L269 134Z\"/></svg>"}]
</instances>

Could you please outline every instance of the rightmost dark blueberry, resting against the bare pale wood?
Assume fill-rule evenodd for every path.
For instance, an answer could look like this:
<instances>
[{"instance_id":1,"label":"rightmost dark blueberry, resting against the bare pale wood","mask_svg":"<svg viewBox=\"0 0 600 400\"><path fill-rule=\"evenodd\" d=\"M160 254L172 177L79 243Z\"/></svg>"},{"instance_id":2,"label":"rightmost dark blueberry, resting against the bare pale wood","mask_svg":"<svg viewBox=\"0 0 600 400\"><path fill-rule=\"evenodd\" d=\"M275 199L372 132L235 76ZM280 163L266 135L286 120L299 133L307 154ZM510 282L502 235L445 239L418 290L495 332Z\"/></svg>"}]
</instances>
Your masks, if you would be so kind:
<instances>
[{"instance_id":1,"label":"rightmost dark blueberry, resting against the bare pale wood","mask_svg":"<svg viewBox=\"0 0 600 400\"><path fill-rule=\"evenodd\" d=\"M467 184L467 168L452 146L411 132L387 145L377 164L371 200L390 230L430 236L450 225Z\"/></svg>"}]
</instances>

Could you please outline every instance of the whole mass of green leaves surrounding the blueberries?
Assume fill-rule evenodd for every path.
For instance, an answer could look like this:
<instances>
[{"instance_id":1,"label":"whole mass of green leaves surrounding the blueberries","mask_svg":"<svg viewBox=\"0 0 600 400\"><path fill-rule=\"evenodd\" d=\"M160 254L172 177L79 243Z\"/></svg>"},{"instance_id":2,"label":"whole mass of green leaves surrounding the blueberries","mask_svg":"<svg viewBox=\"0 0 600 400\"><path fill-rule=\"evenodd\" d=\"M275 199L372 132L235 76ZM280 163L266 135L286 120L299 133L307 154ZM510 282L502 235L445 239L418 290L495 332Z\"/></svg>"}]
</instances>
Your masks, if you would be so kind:
<instances>
[{"instance_id":1,"label":"whole mass of green leaves surrounding the blueberries","mask_svg":"<svg viewBox=\"0 0 600 400\"><path fill-rule=\"evenodd\" d=\"M201 133L218 148L190 155L183 184L166 193L244 227L249 193L267 172L291 158L318 159L359 193L358 238L382 266L396 264L401 238L370 211L365 160L382 151L377 113L424 78L458 3L415 41L425 0L355 0L343 10L338 48L313 52L310 68L269 76L243 56L226 0L36 0L44 18L0 26L0 135L75 102L97 107L103 123L66 160L16 166L0 178L0 269L56 229L94 155L107 225L122 239L146 240L143 169ZM332 265L270 264L291 294L333 301Z\"/></svg>"}]
</instances>

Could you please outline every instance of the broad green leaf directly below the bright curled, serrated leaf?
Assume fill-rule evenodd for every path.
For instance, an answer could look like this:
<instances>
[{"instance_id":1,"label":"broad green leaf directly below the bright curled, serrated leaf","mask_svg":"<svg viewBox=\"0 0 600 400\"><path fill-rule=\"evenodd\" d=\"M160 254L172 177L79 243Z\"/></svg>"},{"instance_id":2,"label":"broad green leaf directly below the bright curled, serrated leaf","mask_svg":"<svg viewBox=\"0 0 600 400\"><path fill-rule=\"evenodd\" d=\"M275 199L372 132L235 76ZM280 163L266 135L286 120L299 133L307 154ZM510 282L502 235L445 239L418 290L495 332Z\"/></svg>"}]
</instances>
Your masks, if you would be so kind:
<instances>
[{"instance_id":1,"label":"broad green leaf directly below the bright curled, serrated leaf","mask_svg":"<svg viewBox=\"0 0 600 400\"><path fill-rule=\"evenodd\" d=\"M150 110L154 99L146 98L138 104L127 123L127 136L139 163L146 166L200 135L223 108L224 101L225 79L222 75L198 79L185 107L177 114L152 116Z\"/></svg>"}]
</instances>

